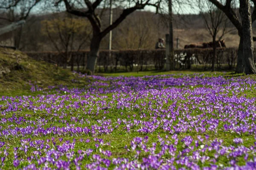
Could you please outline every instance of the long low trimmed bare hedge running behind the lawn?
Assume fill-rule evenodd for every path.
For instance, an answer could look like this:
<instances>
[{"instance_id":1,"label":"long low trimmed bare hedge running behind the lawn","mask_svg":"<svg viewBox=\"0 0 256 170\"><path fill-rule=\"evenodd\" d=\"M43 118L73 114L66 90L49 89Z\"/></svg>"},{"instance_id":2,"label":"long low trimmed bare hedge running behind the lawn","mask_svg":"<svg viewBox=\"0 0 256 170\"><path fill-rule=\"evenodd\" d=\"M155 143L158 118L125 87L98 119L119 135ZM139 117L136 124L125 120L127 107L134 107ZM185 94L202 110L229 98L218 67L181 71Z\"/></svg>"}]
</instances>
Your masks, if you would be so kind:
<instances>
[{"instance_id":1,"label":"long low trimmed bare hedge running behind the lawn","mask_svg":"<svg viewBox=\"0 0 256 170\"><path fill-rule=\"evenodd\" d=\"M56 63L58 66L64 66L65 53L59 52L26 52L27 55L36 59ZM77 66L78 69L85 69L89 51L69 52L67 66L72 69ZM255 55L254 55L255 56ZM175 68L190 69L192 65L209 68L212 60L212 49L178 49L175 50ZM237 60L237 48L217 49L216 65L219 69L233 69ZM165 50L101 50L97 61L96 71L143 71L148 67L154 66L154 69L161 70L166 61Z\"/></svg>"}]
</instances>

